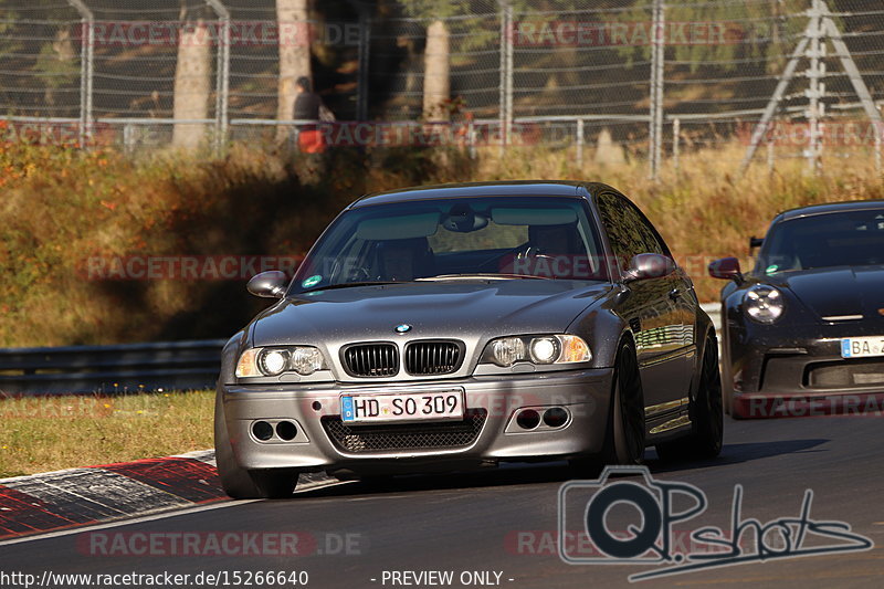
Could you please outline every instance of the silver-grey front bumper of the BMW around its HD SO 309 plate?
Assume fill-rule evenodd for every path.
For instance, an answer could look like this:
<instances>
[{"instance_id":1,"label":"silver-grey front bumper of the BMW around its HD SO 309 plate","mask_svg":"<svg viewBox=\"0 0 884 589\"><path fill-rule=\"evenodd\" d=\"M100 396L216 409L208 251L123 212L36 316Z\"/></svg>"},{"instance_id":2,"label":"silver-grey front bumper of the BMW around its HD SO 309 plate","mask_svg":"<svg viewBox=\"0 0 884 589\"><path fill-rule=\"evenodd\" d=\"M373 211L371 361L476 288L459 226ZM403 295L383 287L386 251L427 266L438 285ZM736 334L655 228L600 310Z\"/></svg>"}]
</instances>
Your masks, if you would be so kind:
<instances>
[{"instance_id":1,"label":"silver-grey front bumper of the BMW around its HD SO 309 plate","mask_svg":"<svg viewBox=\"0 0 884 589\"><path fill-rule=\"evenodd\" d=\"M351 470L360 474L414 472L501 461L549 461L600 452L608 423L612 372L613 369L607 368L474 376L370 387L341 382L221 385L218 393L222 397L234 456L244 469ZM451 388L464 391L467 420L476 421L461 423L460 428L454 423L427 423L427 428L421 423L340 428L339 397L344 393L419 393ZM515 416L522 409L536 408L543 414L552 407L568 412L564 425L541 424L526 431L515 424ZM295 424L297 434L290 441L277 435L261 441L253 433L257 421L271 425L288 421ZM473 434L464 434L471 427ZM461 432L456 440L444 438L454 429ZM367 434L376 441L380 435L383 449L360 445L359 440ZM434 434L443 435L445 443L439 445Z\"/></svg>"}]
</instances>

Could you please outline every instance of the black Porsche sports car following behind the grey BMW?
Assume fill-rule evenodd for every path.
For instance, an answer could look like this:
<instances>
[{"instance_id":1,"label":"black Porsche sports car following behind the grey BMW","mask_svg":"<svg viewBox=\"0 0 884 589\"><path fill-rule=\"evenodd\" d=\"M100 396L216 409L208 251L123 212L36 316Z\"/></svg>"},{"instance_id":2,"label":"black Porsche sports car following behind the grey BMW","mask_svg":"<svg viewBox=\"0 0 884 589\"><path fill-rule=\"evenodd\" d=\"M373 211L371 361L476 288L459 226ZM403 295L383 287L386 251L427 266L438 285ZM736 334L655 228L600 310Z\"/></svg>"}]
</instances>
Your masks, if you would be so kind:
<instances>
[{"instance_id":1,"label":"black Porsche sports car following behind the grey BMW","mask_svg":"<svg viewBox=\"0 0 884 589\"><path fill-rule=\"evenodd\" d=\"M757 263L709 274L722 290L722 380L735 418L764 417L774 399L884 390L884 200L777 215Z\"/></svg>"}]
</instances>

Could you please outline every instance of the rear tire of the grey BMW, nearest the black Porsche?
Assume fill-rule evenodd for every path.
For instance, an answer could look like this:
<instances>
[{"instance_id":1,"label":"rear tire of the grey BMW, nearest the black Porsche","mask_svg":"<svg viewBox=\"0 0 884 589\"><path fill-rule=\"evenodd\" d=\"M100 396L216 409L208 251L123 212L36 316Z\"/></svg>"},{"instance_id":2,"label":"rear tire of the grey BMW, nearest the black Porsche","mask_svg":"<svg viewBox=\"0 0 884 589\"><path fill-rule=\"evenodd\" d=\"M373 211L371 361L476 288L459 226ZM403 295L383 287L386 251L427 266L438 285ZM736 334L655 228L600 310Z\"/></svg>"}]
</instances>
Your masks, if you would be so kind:
<instances>
[{"instance_id":1,"label":"rear tire of the grey BMW, nearest the black Porsche","mask_svg":"<svg viewBox=\"0 0 884 589\"><path fill-rule=\"evenodd\" d=\"M718 344L715 337L706 340L697 395L688 408L691 434L681 440L656 444L663 460L714 459L722 452L724 441L724 407L722 374L718 368Z\"/></svg>"}]
</instances>

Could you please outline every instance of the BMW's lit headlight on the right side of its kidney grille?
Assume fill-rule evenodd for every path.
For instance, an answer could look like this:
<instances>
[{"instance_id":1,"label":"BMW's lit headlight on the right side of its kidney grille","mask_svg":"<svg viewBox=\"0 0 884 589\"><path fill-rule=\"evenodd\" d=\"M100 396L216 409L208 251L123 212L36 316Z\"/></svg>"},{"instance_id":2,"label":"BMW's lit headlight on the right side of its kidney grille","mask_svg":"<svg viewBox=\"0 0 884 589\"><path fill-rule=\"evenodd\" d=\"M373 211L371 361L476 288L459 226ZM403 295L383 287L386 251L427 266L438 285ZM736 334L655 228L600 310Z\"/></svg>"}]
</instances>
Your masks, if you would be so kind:
<instances>
[{"instance_id":1,"label":"BMW's lit headlight on the right side of its kidney grille","mask_svg":"<svg viewBox=\"0 0 884 589\"><path fill-rule=\"evenodd\" d=\"M483 364L504 368L519 361L536 365L588 362L592 353L582 338L571 335L501 337L488 341Z\"/></svg>"}]
</instances>

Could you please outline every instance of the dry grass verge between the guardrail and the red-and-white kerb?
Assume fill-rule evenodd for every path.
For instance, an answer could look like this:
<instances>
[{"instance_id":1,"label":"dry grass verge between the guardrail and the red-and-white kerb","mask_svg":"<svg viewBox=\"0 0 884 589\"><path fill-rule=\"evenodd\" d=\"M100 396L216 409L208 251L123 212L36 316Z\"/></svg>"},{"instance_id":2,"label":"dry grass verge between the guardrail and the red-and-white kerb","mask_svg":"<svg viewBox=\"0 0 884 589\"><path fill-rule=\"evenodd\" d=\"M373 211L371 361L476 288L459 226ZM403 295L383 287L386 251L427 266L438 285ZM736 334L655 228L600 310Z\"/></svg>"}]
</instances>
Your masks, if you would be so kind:
<instances>
[{"instance_id":1,"label":"dry grass verge between the guardrail and the red-and-white kerb","mask_svg":"<svg viewBox=\"0 0 884 589\"><path fill-rule=\"evenodd\" d=\"M0 477L212 446L214 391L0 400Z\"/></svg>"}]
</instances>

